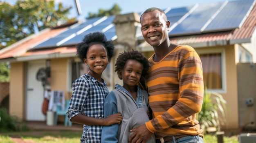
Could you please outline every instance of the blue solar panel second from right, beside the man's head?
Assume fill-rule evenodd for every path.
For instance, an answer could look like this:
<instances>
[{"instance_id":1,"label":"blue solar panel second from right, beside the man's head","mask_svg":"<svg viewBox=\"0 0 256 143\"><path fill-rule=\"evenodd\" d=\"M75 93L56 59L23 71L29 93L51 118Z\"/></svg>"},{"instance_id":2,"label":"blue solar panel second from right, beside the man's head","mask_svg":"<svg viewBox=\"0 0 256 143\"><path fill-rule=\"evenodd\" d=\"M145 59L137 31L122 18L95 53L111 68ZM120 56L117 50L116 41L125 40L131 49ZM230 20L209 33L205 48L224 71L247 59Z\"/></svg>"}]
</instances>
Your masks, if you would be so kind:
<instances>
[{"instance_id":1,"label":"blue solar panel second from right, beside the man's head","mask_svg":"<svg viewBox=\"0 0 256 143\"><path fill-rule=\"evenodd\" d=\"M177 24L169 35L179 35L188 33L200 33L202 27L218 11L223 2L211 4L200 4L180 23Z\"/></svg>"}]
</instances>

